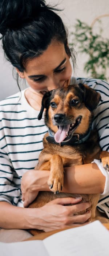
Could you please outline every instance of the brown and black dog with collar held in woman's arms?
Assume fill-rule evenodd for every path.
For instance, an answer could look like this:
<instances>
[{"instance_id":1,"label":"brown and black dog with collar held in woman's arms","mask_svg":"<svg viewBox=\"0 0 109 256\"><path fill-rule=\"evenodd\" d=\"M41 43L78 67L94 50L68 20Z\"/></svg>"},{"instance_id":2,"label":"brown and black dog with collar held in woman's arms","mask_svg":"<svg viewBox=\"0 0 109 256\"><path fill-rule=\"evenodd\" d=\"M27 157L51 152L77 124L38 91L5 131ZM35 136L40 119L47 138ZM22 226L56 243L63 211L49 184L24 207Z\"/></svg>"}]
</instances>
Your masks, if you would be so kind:
<instances>
[{"instance_id":1,"label":"brown and black dog with collar held in woman's arms","mask_svg":"<svg viewBox=\"0 0 109 256\"><path fill-rule=\"evenodd\" d=\"M35 170L50 170L48 185L52 192L39 192L30 208L41 207L57 197L77 197L76 194L59 193L64 183L64 167L91 163L94 158L103 157L104 167L109 168L109 153L101 153L97 131L91 130L93 112L100 99L99 93L83 84L45 93L38 119L46 109L45 124L49 132L44 136L44 149ZM90 221L94 221L99 195L80 196L82 202L91 202ZM40 231L31 230L31 233Z\"/></svg>"}]
</instances>

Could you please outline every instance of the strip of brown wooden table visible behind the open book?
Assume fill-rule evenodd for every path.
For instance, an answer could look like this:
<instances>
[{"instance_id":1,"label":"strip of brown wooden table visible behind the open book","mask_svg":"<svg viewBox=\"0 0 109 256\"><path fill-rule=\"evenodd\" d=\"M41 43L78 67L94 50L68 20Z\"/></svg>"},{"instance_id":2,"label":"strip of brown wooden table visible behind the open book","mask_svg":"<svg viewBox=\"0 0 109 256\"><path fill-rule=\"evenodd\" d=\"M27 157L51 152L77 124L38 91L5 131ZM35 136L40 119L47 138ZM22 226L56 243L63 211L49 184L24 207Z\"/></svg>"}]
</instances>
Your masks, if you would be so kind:
<instances>
[{"instance_id":1,"label":"strip of brown wooden table visible behind the open book","mask_svg":"<svg viewBox=\"0 0 109 256\"><path fill-rule=\"evenodd\" d=\"M102 225L104 225L104 226L109 230L109 223L103 223ZM73 227L70 227L70 229L72 229L72 228L74 228L74 226L73 226ZM66 229L68 229L68 228L66 228ZM38 234L38 235L36 235L36 236L30 237L30 238L28 238L28 239L26 239L26 240L24 240L24 241L29 241L29 240L43 240L44 238L49 237L49 236L51 236L51 235L53 235L53 234L55 234L55 233L57 233L57 232L60 232L60 231L62 231L62 230L65 230L65 229L58 229L58 230L49 231L49 232L46 232L46 233L44 232L44 233Z\"/></svg>"}]
</instances>

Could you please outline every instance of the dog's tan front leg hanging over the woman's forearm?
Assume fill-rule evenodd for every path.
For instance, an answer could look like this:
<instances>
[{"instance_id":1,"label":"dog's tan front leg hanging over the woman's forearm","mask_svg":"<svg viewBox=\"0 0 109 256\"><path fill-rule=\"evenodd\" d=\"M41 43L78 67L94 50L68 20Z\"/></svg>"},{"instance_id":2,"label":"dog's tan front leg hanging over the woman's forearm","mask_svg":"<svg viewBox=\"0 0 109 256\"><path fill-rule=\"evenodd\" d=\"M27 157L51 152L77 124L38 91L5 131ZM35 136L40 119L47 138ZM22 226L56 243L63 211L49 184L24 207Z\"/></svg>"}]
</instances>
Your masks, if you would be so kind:
<instances>
[{"instance_id":1,"label":"dog's tan front leg hanging over the woman's forearm","mask_svg":"<svg viewBox=\"0 0 109 256\"><path fill-rule=\"evenodd\" d=\"M51 170L48 179L48 185L52 192L58 194L64 184L64 168L62 158L59 155L53 155L50 159Z\"/></svg>"}]
</instances>

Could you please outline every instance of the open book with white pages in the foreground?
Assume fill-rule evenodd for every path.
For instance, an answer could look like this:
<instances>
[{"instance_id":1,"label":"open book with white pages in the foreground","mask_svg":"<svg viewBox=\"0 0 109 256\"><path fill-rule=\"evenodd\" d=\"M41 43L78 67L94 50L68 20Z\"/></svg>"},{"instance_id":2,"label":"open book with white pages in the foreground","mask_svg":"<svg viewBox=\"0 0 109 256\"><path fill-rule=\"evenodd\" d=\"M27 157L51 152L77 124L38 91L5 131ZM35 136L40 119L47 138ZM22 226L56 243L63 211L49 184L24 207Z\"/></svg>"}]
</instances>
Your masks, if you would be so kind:
<instances>
[{"instance_id":1,"label":"open book with white pages in the foreground","mask_svg":"<svg viewBox=\"0 0 109 256\"><path fill-rule=\"evenodd\" d=\"M44 240L3 243L1 256L109 256L109 231L99 222L67 229Z\"/></svg>"}]
</instances>

